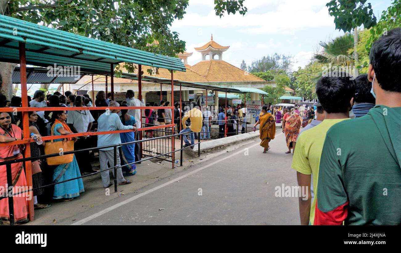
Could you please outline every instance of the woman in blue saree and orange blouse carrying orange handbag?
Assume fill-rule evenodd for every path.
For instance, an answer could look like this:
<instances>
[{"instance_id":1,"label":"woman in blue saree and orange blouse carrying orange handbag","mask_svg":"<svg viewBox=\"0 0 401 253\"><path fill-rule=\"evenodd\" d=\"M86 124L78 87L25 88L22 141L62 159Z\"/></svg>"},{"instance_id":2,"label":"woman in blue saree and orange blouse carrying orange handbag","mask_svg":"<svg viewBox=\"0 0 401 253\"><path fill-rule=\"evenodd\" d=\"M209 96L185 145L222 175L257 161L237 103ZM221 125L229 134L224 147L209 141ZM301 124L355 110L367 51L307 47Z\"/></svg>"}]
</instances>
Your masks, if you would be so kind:
<instances>
[{"instance_id":1,"label":"woman in blue saree and orange blouse carrying orange handbag","mask_svg":"<svg viewBox=\"0 0 401 253\"><path fill-rule=\"evenodd\" d=\"M55 111L51 116L51 121L53 122L52 135L68 135L72 131L68 127L65 120L67 120L66 111ZM54 128L53 128L54 127ZM68 140L77 140L76 137L68 138ZM63 141L63 139L55 139L54 141ZM75 155L71 163L64 163L56 167L53 172L53 182L61 182L75 177L80 177L81 172L79 171L77 160ZM57 184L54 186L53 199L59 199L61 201L70 201L75 197L78 197L80 193L83 193L85 189L83 188L82 179L75 179L65 183Z\"/></svg>"}]
</instances>

